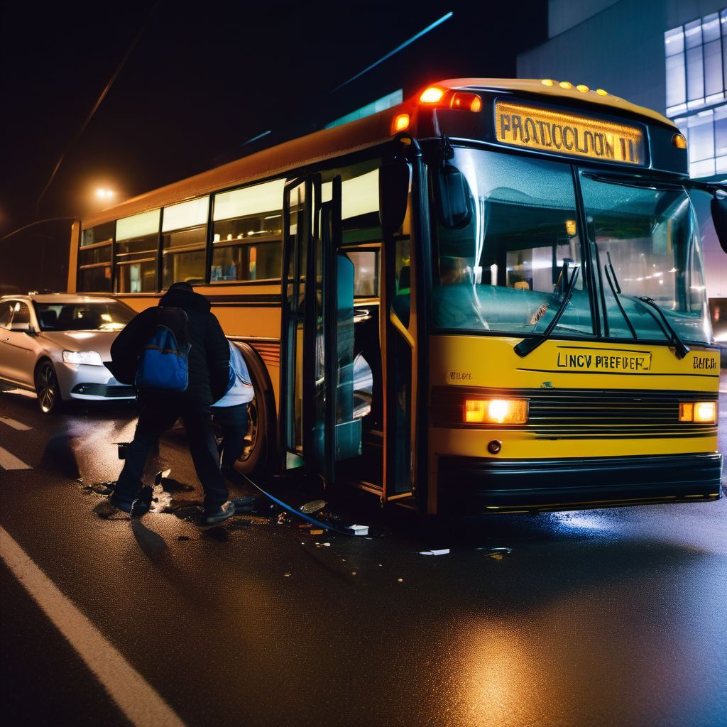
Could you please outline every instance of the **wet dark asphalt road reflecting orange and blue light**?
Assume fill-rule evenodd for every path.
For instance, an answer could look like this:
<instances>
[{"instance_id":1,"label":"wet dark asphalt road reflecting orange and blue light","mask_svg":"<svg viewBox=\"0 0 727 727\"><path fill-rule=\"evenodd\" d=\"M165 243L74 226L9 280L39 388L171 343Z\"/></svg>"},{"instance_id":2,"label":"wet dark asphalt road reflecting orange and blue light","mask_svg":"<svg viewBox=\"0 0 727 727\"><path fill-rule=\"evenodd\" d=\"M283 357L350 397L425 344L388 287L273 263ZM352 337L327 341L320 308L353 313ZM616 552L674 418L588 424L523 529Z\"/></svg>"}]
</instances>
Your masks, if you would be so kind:
<instances>
[{"instance_id":1,"label":"wet dark asphalt road reflecting orange and blue light","mask_svg":"<svg viewBox=\"0 0 727 727\"><path fill-rule=\"evenodd\" d=\"M171 491L130 523L89 486L119 473L133 409L43 417L8 392L0 417L31 427L0 419L31 467L0 467L0 526L188 725L727 724L727 499L433 530L356 493L330 512L381 537L200 529L172 433L149 467ZM1 561L0 608L5 724L129 723Z\"/></svg>"}]
</instances>

